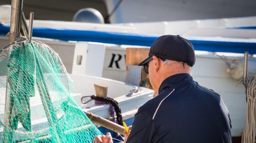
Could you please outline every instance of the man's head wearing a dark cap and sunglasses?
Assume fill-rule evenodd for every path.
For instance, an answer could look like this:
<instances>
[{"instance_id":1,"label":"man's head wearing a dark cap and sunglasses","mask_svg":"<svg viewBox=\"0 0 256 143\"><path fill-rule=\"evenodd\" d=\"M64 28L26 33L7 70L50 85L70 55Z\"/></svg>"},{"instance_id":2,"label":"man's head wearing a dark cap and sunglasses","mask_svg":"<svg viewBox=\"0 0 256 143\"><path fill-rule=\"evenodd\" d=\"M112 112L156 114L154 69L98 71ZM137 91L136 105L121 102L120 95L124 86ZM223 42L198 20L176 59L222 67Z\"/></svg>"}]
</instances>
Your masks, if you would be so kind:
<instances>
[{"instance_id":1,"label":"man's head wearing a dark cap and sunglasses","mask_svg":"<svg viewBox=\"0 0 256 143\"><path fill-rule=\"evenodd\" d=\"M149 57L138 66L144 66L151 85L154 89L158 89L168 76L190 73L195 62L196 56L190 41L179 35L163 35L152 44Z\"/></svg>"}]
</instances>

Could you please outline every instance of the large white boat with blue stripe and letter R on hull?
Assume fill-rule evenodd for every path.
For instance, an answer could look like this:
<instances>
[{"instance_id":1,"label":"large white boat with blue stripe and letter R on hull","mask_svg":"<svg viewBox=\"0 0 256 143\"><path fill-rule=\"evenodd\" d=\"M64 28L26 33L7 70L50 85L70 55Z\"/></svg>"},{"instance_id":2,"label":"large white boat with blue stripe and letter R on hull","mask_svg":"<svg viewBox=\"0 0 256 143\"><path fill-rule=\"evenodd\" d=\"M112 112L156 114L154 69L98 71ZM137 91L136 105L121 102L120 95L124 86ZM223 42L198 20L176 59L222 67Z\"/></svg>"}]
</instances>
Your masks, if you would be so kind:
<instances>
[{"instance_id":1,"label":"large white boat with blue stripe and letter R on hull","mask_svg":"<svg viewBox=\"0 0 256 143\"><path fill-rule=\"evenodd\" d=\"M57 51L71 77L76 74L79 80L79 76L96 76L125 83L127 48L149 48L160 35L181 35L196 50L194 80L222 95L233 124L231 133L241 137L246 122L246 93L239 81L243 78L245 51L249 53L248 77L256 73L255 18L119 24L34 20L33 36ZM8 22L2 21L0 31L3 47L8 44Z\"/></svg>"}]
</instances>

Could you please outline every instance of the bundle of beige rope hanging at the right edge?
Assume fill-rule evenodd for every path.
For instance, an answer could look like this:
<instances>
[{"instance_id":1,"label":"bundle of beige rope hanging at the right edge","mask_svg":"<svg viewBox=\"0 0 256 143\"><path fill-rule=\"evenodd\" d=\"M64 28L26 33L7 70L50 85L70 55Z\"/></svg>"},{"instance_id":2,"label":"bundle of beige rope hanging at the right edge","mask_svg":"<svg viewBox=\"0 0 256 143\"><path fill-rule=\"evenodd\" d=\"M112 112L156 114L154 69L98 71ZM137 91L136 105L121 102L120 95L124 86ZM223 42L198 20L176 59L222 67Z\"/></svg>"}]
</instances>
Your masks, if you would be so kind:
<instances>
[{"instance_id":1,"label":"bundle of beige rope hanging at the right edge","mask_svg":"<svg viewBox=\"0 0 256 143\"><path fill-rule=\"evenodd\" d=\"M256 135L256 75L249 79L247 88L246 125L242 135L242 142L255 142Z\"/></svg>"}]
</instances>

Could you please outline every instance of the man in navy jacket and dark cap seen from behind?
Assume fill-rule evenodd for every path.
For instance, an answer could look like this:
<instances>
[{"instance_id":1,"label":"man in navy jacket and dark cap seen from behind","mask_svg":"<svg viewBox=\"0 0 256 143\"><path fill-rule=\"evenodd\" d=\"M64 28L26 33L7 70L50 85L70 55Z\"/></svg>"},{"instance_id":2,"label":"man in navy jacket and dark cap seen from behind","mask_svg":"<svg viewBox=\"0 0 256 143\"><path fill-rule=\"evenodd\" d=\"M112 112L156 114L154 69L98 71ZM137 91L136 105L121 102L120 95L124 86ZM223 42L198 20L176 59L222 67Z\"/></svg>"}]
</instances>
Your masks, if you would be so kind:
<instances>
[{"instance_id":1,"label":"man in navy jacket and dark cap seen from behind","mask_svg":"<svg viewBox=\"0 0 256 143\"><path fill-rule=\"evenodd\" d=\"M157 38L142 61L157 95L138 109L126 142L231 142L231 121L222 97L198 85L190 72L190 41Z\"/></svg>"}]
</instances>

